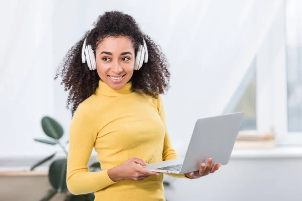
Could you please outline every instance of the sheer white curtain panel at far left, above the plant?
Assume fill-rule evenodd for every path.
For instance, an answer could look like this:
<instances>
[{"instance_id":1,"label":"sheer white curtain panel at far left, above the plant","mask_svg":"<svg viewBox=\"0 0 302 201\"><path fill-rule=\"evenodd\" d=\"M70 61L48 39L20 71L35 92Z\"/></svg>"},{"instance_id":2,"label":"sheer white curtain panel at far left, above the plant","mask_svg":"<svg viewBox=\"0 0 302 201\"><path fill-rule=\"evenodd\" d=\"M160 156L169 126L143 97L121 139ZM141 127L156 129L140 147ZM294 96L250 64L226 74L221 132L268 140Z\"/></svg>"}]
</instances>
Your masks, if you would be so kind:
<instances>
[{"instance_id":1,"label":"sheer white curtain panel at far left, above the plant","mask_svg":"<svg viewBox=\"0 0 302 201\"><path fill-rule=\"evenodd\" d=\"M1 5L0 157L34 155L50 147L34 143L44 137L43 115L53 115L51 1L5 1ZM38 154L39 155L39 154Z\"/></svg>"}]
</instances>

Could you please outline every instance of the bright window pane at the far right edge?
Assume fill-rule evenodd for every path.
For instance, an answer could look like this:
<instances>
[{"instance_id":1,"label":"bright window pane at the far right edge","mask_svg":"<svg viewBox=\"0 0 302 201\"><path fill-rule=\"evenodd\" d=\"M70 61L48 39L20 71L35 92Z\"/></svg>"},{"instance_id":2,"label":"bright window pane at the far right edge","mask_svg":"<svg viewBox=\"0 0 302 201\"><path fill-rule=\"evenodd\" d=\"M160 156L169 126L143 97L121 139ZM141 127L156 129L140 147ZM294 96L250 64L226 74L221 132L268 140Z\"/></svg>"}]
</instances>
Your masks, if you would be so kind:
<instances>
[{"instance_id":1,"label":"bright window pane at the far right edge","mask_svg":"<svg viewBox=\"0 0 302 201\"><path fill-rule=\"evenodd\" d=\"M302 2L285 4L287 119L289 132L302 132Z\"/></svg>"}]
</instances>

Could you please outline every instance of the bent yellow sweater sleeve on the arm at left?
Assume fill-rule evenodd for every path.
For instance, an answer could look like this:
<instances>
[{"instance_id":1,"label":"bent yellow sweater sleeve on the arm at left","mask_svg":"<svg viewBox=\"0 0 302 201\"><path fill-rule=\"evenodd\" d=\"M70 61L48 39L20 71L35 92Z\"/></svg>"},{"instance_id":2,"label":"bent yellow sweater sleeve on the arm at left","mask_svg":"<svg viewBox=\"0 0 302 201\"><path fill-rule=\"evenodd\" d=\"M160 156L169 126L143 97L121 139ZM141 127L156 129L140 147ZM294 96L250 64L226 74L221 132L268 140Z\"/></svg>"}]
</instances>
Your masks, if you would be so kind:
<instances>
[{"instance_id":1,"label":"bent yellow sweater sleeve on the arm at left","mask_svg":"<svg viewBox=\"0 0 302 201\"><path fill-rule=\"evenodd\" d=\"M88 162L98 134L97 122L89 106L79 105L69 128L67 188L72 194L95 192L113 183L107 169L89 172Z\"/></svg>"}]
</instances>

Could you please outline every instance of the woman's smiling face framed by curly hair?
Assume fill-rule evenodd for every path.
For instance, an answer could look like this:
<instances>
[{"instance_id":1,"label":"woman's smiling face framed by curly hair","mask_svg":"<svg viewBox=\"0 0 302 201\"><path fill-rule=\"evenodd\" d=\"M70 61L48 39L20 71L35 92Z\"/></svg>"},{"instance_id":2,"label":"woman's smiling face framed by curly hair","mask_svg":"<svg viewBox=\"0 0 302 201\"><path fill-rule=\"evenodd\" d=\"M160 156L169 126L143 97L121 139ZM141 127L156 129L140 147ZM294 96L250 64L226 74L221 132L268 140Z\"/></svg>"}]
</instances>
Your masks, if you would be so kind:
<instances>
[{"instance_id":1,"label":"woman's smiling face framed by curly hair","mask_svg":"<svg viewBox=\"0 0 302 201\"><path fill-rule=\"evenodd\" d=\"M127 37L107 37L96 49L97 72L113 89L121 89L130 80L134 63L134 47Z\"/></svg>"}]
</instances>

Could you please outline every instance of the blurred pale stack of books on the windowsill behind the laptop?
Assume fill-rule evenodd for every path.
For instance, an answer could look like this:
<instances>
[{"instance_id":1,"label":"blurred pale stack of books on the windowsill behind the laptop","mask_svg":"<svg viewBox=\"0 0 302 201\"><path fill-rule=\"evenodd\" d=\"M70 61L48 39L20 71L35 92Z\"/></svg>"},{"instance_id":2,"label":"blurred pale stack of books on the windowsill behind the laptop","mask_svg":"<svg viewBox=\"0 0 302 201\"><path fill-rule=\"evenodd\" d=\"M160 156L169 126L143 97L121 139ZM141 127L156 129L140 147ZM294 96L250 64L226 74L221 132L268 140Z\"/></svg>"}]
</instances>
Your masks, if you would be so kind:
<instances>
[{"instance_id":1,"label":"blurred pale stack of books on the windowsill behind the laptop","mask_svg":"<svg viewBox=\"0 0 302 201\"><path fill-rule=\"evenodd\" d=\"M240 131L234 149L272 149L276 147L275 133Z\"/></svg>"}]
</instances>

